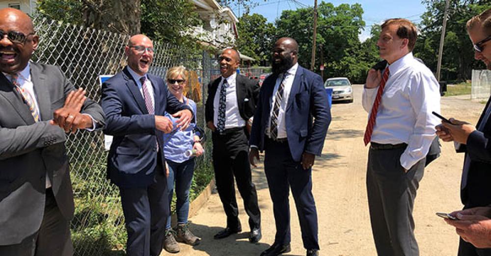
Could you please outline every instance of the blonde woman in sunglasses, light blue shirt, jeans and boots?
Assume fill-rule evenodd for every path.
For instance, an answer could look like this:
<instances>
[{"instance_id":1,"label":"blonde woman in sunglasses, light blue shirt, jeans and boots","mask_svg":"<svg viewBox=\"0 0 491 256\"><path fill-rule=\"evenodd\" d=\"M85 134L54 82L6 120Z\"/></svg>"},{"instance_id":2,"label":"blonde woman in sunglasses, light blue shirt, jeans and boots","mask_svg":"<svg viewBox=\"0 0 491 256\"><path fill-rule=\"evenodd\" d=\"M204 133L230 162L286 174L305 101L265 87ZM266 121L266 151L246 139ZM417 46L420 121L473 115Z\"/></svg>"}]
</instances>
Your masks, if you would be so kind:
<instances>
[{"instance_id":1,"label":"blonde woman in sunglasses, light blue shirt, jeans and boots","mask_svg":"<svg viewBox=\"0 0 491 256\"><path fill-rule=\"evenodd\" d=\"M180 251L177 242L196 245L201 238L191 233L188 228L189 190L194 173L194 157L203 154L200 134L195 132L196 103L184 96L188 71L184 67L172 67L167 71L165 80L167 87L177 100L189 105L194 115L194 124L185 130L175 128L172 132L164 134L164 155L167 162L169 176L167 177L167 192L169 202L176 191L177 230L172 230L170 216L165 227L164 249L169 253ZM173 123L177 120L170 114L165 115ZM192 153L191 153L192 152ZM174 186L175 184L175 186Z\"/></svg>"}]
</instances>

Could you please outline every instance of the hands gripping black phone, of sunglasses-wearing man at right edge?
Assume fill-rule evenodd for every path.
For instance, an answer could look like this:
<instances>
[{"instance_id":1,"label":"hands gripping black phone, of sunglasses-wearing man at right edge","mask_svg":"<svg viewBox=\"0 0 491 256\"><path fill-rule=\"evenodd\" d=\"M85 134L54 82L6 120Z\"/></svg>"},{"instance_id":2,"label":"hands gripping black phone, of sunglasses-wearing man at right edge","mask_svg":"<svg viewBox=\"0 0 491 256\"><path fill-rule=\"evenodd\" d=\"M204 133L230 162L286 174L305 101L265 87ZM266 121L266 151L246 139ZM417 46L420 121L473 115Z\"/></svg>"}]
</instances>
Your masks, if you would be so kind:
<instances>
[{"instance_id":1,"label":"hands gripping black phone, of sunglasses-wearing man at right edge","mask_svg":"<svg viewBox=\"0 0 491 256\"><path fill-rule=\"evenodd\" d=\"M435 127L436 135L446 142L456 141L460 144L466 144L470 133L476 130L476 128L467 122L454 118L450 118L449 121L451 124L442 122Z\"/></svg>"}]
</instances>

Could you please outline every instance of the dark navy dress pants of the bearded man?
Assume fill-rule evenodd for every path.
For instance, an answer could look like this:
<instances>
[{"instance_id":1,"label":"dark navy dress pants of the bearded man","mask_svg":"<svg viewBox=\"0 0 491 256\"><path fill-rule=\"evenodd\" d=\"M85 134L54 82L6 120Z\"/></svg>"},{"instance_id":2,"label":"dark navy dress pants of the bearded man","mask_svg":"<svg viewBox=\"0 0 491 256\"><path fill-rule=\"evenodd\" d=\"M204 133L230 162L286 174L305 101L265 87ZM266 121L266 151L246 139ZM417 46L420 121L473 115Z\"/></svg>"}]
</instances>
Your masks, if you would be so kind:
<instances>
[{"instance_id":1,"label":"dark navy dress pants of the bearded man","mask_svg":"<svg viewBox=\"0 0 491 256\"><path fill-rule=\"evenodd\" d=\"M304 170L290 153L288 142L265 138L264 171L273 201L276 235L274 243L286 245L291 241L290 188L300 221L303 247L319 250L317 209L312 194L312 168Z\"/></svg>"}]
</instances>

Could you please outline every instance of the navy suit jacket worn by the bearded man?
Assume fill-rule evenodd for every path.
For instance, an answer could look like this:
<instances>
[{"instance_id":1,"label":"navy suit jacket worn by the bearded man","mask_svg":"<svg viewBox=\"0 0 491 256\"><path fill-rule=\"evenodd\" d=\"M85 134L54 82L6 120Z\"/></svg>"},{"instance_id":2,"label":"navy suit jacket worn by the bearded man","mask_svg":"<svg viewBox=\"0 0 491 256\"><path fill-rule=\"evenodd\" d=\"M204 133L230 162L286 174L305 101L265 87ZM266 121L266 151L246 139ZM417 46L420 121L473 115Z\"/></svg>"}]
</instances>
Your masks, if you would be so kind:
<instances>
[{"instance_id":1,"label":"navy suit jacket worn by the bearded man","mask_svg":"<svg viewBox=\"0 0 491 256\"><path fill-rule=\"evenodd\" d=\"M264 80L252 123L249 144L258 146L260 151L264 150L276 78L271 75ZM288 144L295 161L300 162L303 152L321 154L331 122L327 93L322 78L300 65L290 91L285 121Z\"/></svg>"}]
</instances>

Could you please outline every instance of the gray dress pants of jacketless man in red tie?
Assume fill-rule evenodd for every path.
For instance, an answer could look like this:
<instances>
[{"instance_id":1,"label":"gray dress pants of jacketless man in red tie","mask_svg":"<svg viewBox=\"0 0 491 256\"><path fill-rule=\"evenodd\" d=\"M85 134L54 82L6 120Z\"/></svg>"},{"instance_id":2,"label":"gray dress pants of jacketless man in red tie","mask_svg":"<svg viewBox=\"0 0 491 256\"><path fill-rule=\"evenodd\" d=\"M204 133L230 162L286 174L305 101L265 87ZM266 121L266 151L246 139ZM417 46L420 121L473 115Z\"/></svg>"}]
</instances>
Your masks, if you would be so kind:
<instances>
[{"instance_id":1,"label":"gray dress pants of jacketless man in red tie","mask_svg":"<svg viewBox=\"0 0 491 256\"><path fill-rule=\"evenodd\" d=\"M377 253L380 256L418 256L412 210L426 159L419 160L405 173L400 157L406 144L393 149L375 149L372 145L366 182Z\"/></svg>"}]
</instances>

